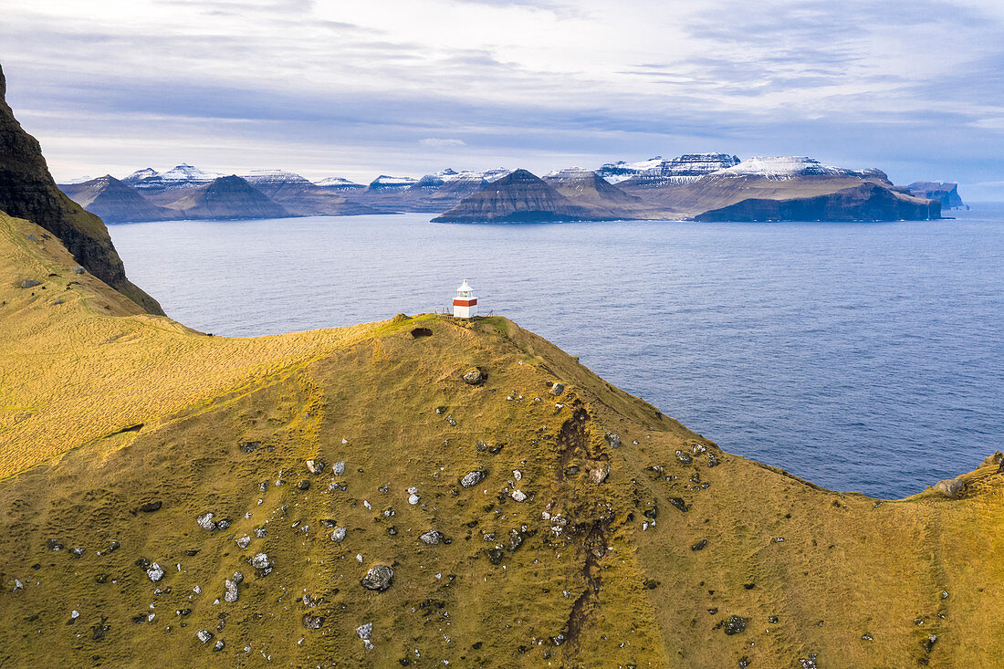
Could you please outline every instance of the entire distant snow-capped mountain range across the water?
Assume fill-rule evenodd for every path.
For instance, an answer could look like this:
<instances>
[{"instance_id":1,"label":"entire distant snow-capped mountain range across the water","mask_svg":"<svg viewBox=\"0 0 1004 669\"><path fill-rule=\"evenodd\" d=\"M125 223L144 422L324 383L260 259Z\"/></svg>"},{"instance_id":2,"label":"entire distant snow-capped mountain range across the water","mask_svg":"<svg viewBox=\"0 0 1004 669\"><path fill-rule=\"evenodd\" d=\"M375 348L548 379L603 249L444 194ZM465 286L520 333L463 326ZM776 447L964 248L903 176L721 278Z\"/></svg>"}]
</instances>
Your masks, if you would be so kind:
<instances>
[{"instance_id":1,"label":"entire distant snow-capped mountain range across the water","mask_svg":"<svg viewBox=\"0 0 1004 669\"><path fill-rule=\"evenodd\" d=\"M367 185L342 177L314 183L281 170L224 176L182 164L60 188L110 223L396 212L437 214L434 220L444 222L928 220L964 206L956 184L900 187L877 169L723 153L568 168L543 179L525 170L446 169L421 178L381 175Z\"/></svg>"}]
</instances>

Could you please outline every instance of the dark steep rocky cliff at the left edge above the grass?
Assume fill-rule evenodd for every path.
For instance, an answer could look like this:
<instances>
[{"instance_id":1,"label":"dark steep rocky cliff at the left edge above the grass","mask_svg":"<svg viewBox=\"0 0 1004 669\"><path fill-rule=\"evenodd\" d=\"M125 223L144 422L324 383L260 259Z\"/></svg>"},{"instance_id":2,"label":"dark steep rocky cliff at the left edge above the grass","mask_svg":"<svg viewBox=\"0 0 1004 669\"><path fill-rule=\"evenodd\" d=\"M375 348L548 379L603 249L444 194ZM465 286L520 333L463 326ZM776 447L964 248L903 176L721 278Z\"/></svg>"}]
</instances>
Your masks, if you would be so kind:
<instances>
[{"instance_id":1,"label":"dark steep rocky cliff at the left edge above the grass","mask_svg":"<svg viewBox=\"0 0 1004 669\"><path fill-rule=\"evenodd\" d=\"M0 68L0 211L24 218L56 235L87 271L150 313L161 305L126 277L108 230L94 214L64 195L52 180L35 138L21 128L6 102Z\"/></svg>"}]
</instances>

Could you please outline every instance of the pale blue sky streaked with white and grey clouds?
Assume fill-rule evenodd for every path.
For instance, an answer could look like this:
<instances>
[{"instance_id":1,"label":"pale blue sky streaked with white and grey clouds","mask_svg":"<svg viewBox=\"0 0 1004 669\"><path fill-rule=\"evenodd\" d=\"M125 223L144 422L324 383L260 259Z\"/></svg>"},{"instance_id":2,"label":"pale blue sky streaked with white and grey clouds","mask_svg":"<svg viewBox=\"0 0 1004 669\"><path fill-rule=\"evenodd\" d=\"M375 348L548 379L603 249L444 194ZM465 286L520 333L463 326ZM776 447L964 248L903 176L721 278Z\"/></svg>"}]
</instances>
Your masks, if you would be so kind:
<instances>
[{"instance_id":1,"label":"pale blue sky streaked with white and grey clouds","mask_svg":"<svg viewBox=\"0 0 1004 669\"><path fill-rule=\"evenodd\" d=\"M1004 200L1001 0L0 0L58 180L724 152Z\"/></svg>"}]
</instances>

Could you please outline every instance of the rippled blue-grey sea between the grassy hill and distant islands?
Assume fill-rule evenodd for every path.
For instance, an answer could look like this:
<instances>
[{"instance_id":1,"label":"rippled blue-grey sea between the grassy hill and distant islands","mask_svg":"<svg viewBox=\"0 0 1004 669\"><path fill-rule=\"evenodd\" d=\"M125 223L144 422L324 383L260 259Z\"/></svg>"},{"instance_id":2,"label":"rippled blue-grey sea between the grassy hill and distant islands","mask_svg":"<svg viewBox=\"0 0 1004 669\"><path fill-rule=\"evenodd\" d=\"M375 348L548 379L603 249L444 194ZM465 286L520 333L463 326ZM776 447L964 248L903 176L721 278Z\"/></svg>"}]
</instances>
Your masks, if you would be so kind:
<instances>
[{"instance_id":1,"label":"rippled blue-grey sea between the grassy hill and distant islands","mask_svg":"<svg viewBox=\"0 0 1004 669\"><path fill-rule=\"evenodd\" d=\"M899 223L110 226L174 318L231 337L444 308L462 279L722 448L901 497L1004 449L1004 205Z\"/></svg>"}]
</instances>

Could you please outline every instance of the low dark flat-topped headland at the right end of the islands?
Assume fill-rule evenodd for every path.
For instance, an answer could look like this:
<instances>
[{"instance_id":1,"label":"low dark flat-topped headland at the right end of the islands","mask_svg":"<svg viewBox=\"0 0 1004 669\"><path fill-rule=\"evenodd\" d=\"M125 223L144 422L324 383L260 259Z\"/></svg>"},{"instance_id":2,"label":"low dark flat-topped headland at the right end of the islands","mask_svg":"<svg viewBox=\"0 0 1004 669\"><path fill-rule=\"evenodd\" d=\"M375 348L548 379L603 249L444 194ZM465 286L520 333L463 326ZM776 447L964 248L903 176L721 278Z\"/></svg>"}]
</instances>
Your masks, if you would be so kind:
<instances>
[{"instance_id":1,"label":"low dark flat-topped headland at the right end of the islands","mask_svg":"<svg viewBox=\"0 0 1004 669\"><path fill-rule=\"evenodd\" d=\"M873 183L807 198L749 198L694 217L697 221L898 221L941 218L941 203Z\"/></svg>"}]
</instances>

